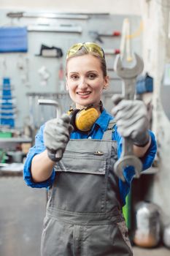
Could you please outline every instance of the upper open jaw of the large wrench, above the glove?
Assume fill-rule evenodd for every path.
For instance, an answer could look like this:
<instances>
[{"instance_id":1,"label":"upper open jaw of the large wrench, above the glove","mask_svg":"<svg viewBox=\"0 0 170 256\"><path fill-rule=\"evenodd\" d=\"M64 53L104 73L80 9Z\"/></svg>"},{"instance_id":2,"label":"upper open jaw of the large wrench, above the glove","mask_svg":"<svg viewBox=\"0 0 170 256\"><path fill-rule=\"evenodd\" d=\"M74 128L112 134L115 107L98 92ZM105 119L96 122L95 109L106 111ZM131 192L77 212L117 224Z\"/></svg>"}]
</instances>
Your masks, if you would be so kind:
<instances>
[{"instance_id":1,"label":"upper open jaw of the large wrench, above the glove","mask_svg":"<svg viewBox=\"0 0 170 256\"><path fill-rule=\"evenodd\" d=\"M120 78L136 78L144 69L144 61L142 58L137 53L134 53L134 56L136 64L132 68L123 67L120 54L116 56L114 70L117 72L117 75L120 76Z\"/></svg>"}]
</instances>

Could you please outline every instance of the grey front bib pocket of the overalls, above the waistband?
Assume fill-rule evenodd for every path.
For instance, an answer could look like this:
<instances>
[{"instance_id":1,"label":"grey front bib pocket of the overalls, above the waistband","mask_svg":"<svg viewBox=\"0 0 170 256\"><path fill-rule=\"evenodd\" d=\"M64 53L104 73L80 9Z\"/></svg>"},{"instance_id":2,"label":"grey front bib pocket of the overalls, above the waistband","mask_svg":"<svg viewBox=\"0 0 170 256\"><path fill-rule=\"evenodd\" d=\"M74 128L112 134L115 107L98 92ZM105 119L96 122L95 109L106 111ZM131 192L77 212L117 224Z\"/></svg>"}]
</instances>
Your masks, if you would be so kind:
<instances>
[{"instance_id":1,"label":"grey front bib pocket of the overalls, above the waistband","mask_svg":"<svg viewBox=\"0 0 170 256\"><path fill-rule=\"evenodd\" d=\"M63 211L103 213L107 189L106 165L106 157L95 152L66 151L55 167L55 207Z\"/></svg>"}]
</instances>

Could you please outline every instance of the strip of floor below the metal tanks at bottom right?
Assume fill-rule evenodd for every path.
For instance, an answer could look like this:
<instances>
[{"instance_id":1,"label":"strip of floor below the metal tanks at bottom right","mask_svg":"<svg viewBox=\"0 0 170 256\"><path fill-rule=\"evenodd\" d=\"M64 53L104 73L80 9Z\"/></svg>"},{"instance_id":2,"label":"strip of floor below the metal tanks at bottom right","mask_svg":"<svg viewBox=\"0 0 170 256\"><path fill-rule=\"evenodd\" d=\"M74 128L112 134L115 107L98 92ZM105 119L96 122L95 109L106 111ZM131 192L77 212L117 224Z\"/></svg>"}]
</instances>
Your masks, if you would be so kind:
<instances>
[{"instance_id":1,"label":"strip of floor below the metal tanks at bottom right","mask_svg":"<svg viewBox=\"0 0 170 256\"><path fill-rule=\"evenodd\" d=\"M134 256L170 256L170 249L158 247L154 249L143 249L133 246Z\"/></svg>"}]
</instances>

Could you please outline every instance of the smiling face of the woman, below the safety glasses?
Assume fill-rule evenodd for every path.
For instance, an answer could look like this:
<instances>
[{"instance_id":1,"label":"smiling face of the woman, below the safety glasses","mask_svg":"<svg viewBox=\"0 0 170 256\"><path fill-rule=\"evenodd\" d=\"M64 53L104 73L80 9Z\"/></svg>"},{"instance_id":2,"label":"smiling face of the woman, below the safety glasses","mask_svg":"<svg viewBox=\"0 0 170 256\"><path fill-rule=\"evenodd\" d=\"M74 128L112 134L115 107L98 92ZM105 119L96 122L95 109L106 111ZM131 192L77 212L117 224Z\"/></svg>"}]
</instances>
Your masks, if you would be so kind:
<instances>
[{"instance_id":1,"label":"smiling face of the woman, below the safety glasses","mask_svg":"<svg viewBox=\"0 0 170 256\"><path fill-rule=\"evenodd\" d=\"M101 61L96 56L85 54L74 56L66 64L66 89L76 108L98 105L109 78L104 77ZM97 107L96 107L97 108Z\"/></svg>"}]
</instances>

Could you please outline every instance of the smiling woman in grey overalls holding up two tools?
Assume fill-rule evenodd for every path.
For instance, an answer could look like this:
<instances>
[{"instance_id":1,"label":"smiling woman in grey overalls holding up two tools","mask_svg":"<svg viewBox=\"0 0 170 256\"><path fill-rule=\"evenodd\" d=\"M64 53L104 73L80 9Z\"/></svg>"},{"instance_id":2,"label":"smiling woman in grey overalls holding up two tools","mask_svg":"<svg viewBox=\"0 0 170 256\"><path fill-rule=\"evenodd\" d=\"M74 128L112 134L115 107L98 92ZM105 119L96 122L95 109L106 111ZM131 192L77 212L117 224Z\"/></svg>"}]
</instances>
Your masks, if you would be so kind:
<instances>
[{"instance_id":1,"label":"smiling woman in grey overalls holding up two tools","mask_svg":"<svg viewBox=\"0 0 170 256\"><path fill-rule=\"evenodd\" d=\"M102 48L93 42L73 45L66 57L66 89L75 109L40 128L24 166L29 186L49 187L42 256L133 255L122 207L134 170L124 170L123 182L113 166L121 135L134 141L143 169L155 157L155 138L147 130L143 102L119 99L115 118L107 113L101 94L108 84Z\"/></svg>"}]
</instances>

